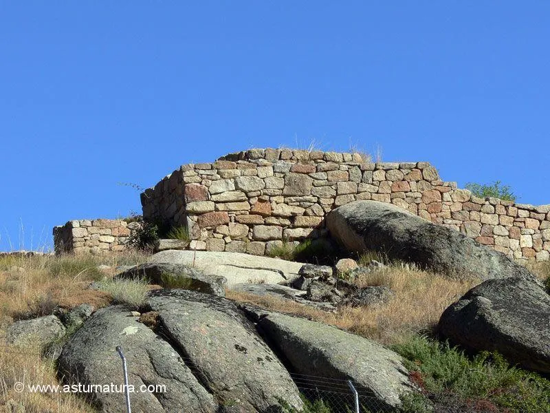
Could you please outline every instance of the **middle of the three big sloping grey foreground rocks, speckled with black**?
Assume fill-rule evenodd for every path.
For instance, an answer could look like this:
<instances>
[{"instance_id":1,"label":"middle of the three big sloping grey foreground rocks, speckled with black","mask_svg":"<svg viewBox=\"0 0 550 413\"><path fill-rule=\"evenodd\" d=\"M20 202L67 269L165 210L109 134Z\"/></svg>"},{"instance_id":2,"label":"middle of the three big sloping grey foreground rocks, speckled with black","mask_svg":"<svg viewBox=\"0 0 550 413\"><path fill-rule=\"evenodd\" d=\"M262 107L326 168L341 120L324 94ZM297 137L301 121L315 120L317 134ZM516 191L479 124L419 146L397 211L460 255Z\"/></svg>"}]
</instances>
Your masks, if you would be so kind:
<instances>
[{"instance_id":1,"label":"middle of the three big sloping grey foreground rocks, speckled with black","mask_svg":"<svg viewBox=\"0 0 550 413\"><path fill-rule=\"evenodd\" d=\"M281 401L301 409L296 384L232 301L177 289L154 291L146 305L225 412L278 412Z\"/></svg>"}]
</instances>

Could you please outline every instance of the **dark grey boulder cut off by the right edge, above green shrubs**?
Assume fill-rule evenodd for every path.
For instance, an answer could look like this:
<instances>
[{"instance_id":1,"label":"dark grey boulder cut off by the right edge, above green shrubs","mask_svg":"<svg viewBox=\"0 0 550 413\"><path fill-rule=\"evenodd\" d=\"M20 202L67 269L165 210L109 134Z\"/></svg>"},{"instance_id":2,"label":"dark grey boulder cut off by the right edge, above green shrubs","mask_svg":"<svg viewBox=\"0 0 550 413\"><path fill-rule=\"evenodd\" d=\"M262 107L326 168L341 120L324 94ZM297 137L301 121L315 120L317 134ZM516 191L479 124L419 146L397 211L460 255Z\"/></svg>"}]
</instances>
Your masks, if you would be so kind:
<instances>
[{"instance_id":1,"label":"dark grey boulder cut off by the right edge, above green shrubs","mask_svg":"<svg viewBox=\"0 0 550 413\"><path fill-rule=\"evenodd\" d=\"M492 279L468 291L439 319L439 331L473 350L550 373L550 296L525 279Z\"/></svg>"}]
</instances>

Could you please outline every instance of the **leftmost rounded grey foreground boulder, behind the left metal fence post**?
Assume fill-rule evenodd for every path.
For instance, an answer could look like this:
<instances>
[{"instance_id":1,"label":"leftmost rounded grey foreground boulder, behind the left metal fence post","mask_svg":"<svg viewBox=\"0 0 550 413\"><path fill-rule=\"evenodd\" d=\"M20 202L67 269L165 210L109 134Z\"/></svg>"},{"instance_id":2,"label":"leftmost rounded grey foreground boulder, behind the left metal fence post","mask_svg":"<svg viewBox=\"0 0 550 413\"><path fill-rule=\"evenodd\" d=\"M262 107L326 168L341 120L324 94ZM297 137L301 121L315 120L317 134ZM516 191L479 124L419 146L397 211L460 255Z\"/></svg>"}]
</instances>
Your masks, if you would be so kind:
<instances>
[{"instance_id":1,"label":"leftmost rounded grey foreground boulder, behind the left metal fence post","mask_svg":"<svg viewBox=\"0 0 550 413\"><path fill-rule=\"evenodd\" d=\"M115 351L122 346L128 363L129 384L166 385L166 392L134 392L133 412L217 412L217 402L181 360L178 352L153 330L131 317L123 306L101 308L67 341L58 371L66 383L119 385L124 383L122 361ZM126 411L124 394L91 394L104 413Z\"/></svg>"}]
</instances>

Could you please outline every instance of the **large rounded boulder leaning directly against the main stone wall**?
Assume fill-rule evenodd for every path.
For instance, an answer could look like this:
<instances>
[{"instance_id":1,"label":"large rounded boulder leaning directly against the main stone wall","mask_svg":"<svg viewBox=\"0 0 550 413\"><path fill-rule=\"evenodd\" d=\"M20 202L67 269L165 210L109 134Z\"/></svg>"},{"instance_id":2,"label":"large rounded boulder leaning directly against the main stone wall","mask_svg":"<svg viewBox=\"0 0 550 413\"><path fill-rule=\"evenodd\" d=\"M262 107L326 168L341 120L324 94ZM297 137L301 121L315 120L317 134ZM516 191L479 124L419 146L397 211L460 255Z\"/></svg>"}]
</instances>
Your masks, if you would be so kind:
<instances>
[{"instance_id":1,"label":"large rounded boulder leaning directly against the main stone wall","mask_svg":"<svg viewBox=\"0 0 550 413\"><path fill-rule=\"evenodd\" d=\"M536 277L506 255L392 204L355 201L327 215L331 235L350 251L380 251L461 279Z\"/></svg>"}]
</instances>

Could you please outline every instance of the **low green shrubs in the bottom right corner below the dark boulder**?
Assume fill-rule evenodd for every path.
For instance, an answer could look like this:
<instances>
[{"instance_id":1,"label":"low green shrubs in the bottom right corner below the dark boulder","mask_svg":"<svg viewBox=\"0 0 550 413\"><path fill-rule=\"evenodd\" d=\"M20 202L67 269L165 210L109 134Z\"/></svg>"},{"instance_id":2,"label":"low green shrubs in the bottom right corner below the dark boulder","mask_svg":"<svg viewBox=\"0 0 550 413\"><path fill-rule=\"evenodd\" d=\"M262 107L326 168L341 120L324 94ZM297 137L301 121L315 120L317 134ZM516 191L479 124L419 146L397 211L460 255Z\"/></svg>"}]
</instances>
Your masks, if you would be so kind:
<instances>
[{"instance_id":1,"label":"low green shrubs in the bottom right corner below the dark boulder","mask_svg":"<svg viewBox=\"0 0 550 413\"><path fill-rule=\"evenodd\" d=\"M550 411L550 381L510 367L498 353L480 352L470 358L448 343L418 336L393 350L404 357L406 368L416 372L434 403L459 400L468 406L494 403L509 412Z\"/></svg>"}]
</instances>

